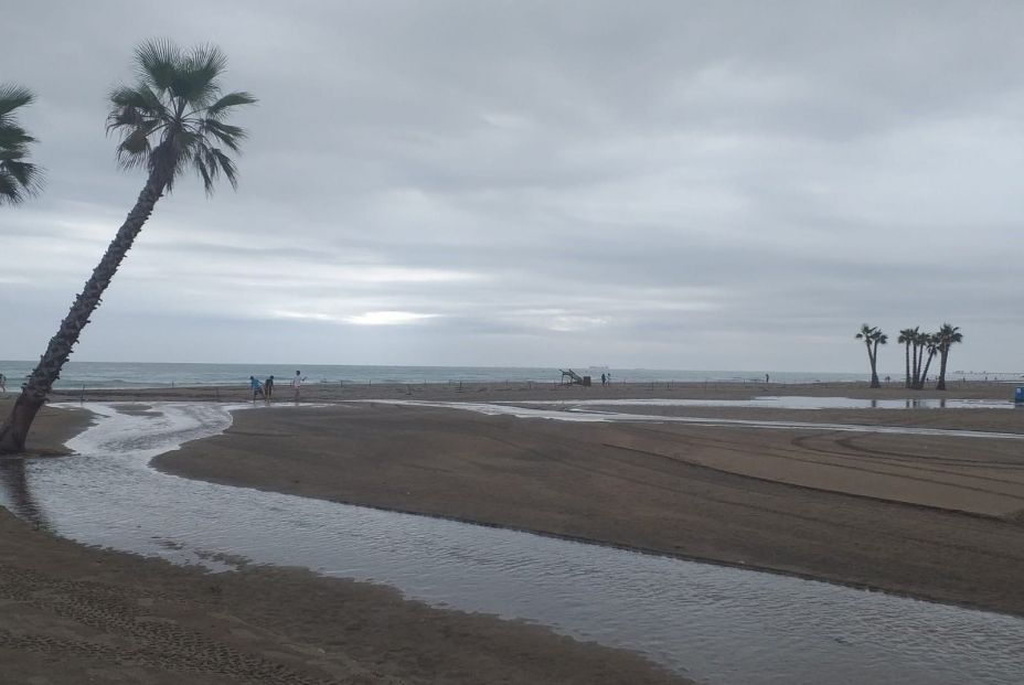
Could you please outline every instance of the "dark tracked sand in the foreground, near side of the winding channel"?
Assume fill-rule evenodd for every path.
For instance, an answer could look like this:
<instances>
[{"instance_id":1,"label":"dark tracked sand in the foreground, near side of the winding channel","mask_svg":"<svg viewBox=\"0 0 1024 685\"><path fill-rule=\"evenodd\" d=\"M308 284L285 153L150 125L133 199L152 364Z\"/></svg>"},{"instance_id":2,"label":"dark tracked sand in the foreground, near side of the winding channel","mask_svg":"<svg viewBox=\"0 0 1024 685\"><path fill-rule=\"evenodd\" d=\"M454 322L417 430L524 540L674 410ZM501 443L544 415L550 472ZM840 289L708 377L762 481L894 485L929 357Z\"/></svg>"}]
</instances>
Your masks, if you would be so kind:
<instances>
[{"instance_id":1,"label":"dark tracked sand in the foreground, near side of the winding channel","mask_svg":"<svg viewBox=\"0 0 1024 685\"><path fill-rule=\"evenodd\" d=\"M30 439L44 456L30 459L55 458L87 421L46 409ZM628 652L381 586L288 568L213 575L82 547L2 507L0 664L0 683L41 685L685 682Z\"/></svg>"}]
</instances>

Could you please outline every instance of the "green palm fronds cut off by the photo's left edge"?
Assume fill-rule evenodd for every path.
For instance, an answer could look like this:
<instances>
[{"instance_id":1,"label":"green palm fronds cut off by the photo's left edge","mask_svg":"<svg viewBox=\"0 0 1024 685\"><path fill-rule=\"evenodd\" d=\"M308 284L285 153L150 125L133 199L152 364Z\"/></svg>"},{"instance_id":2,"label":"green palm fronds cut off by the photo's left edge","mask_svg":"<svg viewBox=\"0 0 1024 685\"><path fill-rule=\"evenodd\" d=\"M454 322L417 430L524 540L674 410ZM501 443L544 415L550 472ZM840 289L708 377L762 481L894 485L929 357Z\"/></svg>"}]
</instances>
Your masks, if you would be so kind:
<instances>
[{"instance_id":1,"label":"green palm fronds cut off by the photo's left edge","mask_svg":"<svg viewBox=\"0 0 1024 685\"><path fill-rule=\"evenodd\" d=\"M43 172L25 161L35 138L18 125L19 107L35 96L21 86L0 85L0 205L19 204L42 186Z\"/></svg>"}]
</instances>

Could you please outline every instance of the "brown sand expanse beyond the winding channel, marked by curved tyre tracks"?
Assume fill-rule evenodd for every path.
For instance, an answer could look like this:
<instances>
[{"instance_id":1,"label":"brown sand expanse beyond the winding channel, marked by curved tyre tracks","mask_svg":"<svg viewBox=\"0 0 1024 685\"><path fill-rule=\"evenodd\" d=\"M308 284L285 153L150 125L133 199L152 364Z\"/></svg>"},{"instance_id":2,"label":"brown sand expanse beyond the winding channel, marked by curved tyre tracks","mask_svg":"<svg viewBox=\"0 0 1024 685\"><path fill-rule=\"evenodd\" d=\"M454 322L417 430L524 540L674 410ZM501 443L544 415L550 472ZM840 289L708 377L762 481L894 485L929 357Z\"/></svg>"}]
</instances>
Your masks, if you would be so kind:
<instances>
[{"instance_id":1,"label":"brown sand expanse beyond the winding channel, marked by curved tyre tracks","mask_svg":"<svg viewBox=\"0 0 1024 685\"><path fill-rule=\"evenodd\" d=\"M1006 399L970 384L956 398ZM369 394L365 389L363 396ZM377 388L382 398L749 397L764 387ZM939 396L777 387L794 395ZM317 399L360 393L317 388ZM601 393L605 393L601 395ZM1024 432L1024 411L661 408ZM644 414L652 408L642 408ZM1024 442L672 424L566 424L341 403L235 413L158 468L227 484L764 568L1024 616Z\"/></svg>"}]
</instances>

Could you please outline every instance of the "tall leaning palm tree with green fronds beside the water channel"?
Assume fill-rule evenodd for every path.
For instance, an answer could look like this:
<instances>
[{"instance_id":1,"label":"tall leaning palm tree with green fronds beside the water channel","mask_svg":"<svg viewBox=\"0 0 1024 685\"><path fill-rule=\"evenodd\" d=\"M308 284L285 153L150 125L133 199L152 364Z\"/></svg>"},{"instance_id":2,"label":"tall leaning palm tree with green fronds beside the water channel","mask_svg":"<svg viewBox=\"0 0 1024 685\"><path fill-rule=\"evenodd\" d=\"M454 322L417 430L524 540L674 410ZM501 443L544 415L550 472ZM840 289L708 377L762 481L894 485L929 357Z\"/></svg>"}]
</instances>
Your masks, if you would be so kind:
<instances>
[{"instance_id":1,"label":"tall leaning palm tree with green fronds beside the water channel","mask_svg":"<svg viewBox=\"0 0 1024 685\"><path fill-rule=\"evenodd\" d=\"M235 107L256 98L248 93L223 93L224 54L213 46L185 52L169 41L150 41L135 56L139 83L110 93L107 131L120 138L117 160L122 168L147 170L146 185L0 426L0 453L24 450L32 420L60 378L78 334L157 201L175 179L191 168L202 178L207 194L222 174L232 186L237 185L228 153L239 151L245 131L225 119Z\"/></svg>"}]
</instances>

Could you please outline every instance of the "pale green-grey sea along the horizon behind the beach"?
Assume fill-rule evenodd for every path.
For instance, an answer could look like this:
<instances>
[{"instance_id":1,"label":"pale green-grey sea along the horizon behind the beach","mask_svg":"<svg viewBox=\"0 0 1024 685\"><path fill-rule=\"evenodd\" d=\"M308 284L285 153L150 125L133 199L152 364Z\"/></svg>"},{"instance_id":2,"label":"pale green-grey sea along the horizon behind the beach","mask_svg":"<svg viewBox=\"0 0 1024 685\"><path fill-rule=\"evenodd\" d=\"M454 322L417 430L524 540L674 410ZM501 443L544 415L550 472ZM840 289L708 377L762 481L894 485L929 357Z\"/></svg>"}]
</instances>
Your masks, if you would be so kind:
<instances>
[{"instance_id":1,"label":"pale green-grey sea along the horizon behind the beach","mask_svg":"<svg viewBox=\"0 0 1024 685\"><path fill-rule=\"evenodd\" d=\"M0 361L0 373L8 378L8 392L17 390L32 373L35 362ZM865 373L792 372L792 371L695 371L672 368L609 368L608 366L572 366L580 376L600 382L601 374L612 383L714 382L764 383L766 374L772 384L866 382ZM61 379L61 389L79 388L147 388L204 385L247 384L249 376L266 378L274 375L287 382L300 371L307 383L342 384L422 384L422 383L557 383L562 368L556 366L356 366L345 364L186 364L154 362L68 362ZM883 376L884 378L885 376ZM892 374L893 382L903 376ZM956 372L950 379L1005 381L1022 378L1022 373Z\"/></svg>"}]
</instances>

